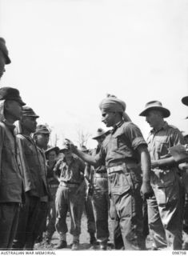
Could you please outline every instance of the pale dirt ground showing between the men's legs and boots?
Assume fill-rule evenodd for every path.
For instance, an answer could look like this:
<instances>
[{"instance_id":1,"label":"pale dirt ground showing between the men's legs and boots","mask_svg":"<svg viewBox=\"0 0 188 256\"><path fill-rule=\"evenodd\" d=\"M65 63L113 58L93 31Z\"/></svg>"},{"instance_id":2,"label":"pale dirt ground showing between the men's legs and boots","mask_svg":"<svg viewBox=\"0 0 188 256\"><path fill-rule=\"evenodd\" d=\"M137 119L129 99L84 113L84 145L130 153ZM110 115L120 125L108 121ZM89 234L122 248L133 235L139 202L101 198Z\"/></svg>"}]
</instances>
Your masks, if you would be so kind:
<instances>
[{"instance_id":1,"label":"pale dirt ground showing between the men's legs and boots","mask_svg":"<svg viewBox=\"0 0 188 256\"><path fill-rule=\"evenodd\" d=\"M70 217L67 217L67 225L70 230ZM109 230L110 230L110 238L108 244L113 244L113 234L112 234L112 222L109 219ZM72 236L67 233L67 248L61 249L61 250L71 250L71 243L72 243ZM55 250L54 247L58 244L58 233L55 232L53 235L53 238L51 240L50 245L46 245L45 242L41 242L40 244L35 244L34 250ZM150 250L152 241L150 239L150 236L148 236L146 240L146 248L147 250ZM94 248L90 245L90 235L87 232L87 219L86 215L82 215L82 233L80 235L80 249L79 250L94 250ZM98 247L95 248L95 250L98 250ZM107 247L107 250L113 250L111 246Z\"/></svg>"}]
</instances>

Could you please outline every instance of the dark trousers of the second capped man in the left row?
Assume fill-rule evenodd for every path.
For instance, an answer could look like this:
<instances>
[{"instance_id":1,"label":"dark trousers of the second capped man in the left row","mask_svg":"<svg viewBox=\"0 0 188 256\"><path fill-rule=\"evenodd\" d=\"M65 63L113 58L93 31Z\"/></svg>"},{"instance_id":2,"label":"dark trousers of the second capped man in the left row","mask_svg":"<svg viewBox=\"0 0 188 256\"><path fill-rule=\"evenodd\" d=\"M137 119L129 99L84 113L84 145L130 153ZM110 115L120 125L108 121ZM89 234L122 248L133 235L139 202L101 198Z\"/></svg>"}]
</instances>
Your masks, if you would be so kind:
<instances>
[{"instance_id":1,"label":"dark trousers of the second capped man in the left row","mask_svg":"<svg viewBox=\"0 0 188 256\"><path fill-rule=\"evenodd\" d=\"M34 247L34 230L38 218L40 198L25 193L26 202L22 205L19 214L18 228L13 242L13 248L18 250L32 250Z\"/></svg>"}]
</instances>

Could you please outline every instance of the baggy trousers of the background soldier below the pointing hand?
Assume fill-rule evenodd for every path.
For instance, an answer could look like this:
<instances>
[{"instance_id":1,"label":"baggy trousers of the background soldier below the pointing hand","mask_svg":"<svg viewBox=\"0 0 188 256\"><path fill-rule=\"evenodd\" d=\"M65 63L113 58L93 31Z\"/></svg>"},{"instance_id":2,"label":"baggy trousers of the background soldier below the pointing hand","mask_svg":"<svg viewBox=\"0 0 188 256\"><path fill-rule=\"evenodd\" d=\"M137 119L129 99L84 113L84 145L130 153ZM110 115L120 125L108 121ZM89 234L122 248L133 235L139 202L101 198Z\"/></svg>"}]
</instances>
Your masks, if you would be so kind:
<instances>
[{"instance_id":1,"label":"baggy trousers of the background soldier below the pointing hand","mask_svg":"<svg viewBox=\"0 0 188 256\"><path fill-rule=\"evenodd\" d=\"M84 191L77 193L78 186L58 186L55 198L56 207L56 230L61 235L68 231L66 225L66 215L70 212L70 234L79 236L81 233L81 219L84 207Z\"/></svg>"}]
</instances>

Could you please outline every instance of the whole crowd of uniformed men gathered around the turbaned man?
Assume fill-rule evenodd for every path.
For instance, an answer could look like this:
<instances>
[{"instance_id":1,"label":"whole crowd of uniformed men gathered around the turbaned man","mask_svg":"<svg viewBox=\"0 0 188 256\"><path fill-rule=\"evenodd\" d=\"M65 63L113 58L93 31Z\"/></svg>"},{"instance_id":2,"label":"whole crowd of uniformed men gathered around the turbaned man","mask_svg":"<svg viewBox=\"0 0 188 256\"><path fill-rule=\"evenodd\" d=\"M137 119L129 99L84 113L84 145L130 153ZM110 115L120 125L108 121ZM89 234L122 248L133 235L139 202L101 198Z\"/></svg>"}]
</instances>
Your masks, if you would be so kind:
<instances>
[{"instance_id":1,"label":"whole crowd of uniformed men gathered around the turbaned man","mask_svg":"<svg viewBox=\"0 0 188 256\"><path fill-rule=\"evenodd\" d=\"M10 64L0 38L0 76ZM188 106L188 96L182 98ZM50 130L37 126L38 114L12 87L0 88L0 249L33 250L50 244L67 247L70 214L72 250L79 249L82 212L86 209L90 244L108 249L109 222L114 222L114 249L182 250L188 233L187 134L164 118L161 102L146 103L140 116L152 130L147 141L126 114L126 103L108 95L99 104L102 122L94 150L80 150L66 139L49 147ZM45 232L45 236L44 236ZM183 249L187 249L184 243Z\"/></svg>"}]
</instances>

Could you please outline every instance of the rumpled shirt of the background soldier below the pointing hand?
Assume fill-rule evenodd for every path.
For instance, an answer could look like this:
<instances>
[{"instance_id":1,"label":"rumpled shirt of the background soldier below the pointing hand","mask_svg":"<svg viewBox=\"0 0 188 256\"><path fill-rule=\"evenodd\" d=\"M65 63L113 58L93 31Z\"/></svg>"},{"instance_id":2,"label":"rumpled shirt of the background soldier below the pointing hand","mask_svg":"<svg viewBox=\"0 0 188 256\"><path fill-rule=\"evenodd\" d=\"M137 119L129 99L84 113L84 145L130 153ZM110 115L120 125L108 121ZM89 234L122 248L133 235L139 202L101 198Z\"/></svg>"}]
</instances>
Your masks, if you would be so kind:
<instances>
[{"instance_id":1,"label":"rumpled shirt of the background soldier below the pointing hand","mask_svg":"<svg viewBox=\"0 0 188 256\"><path fill-rule=\"evenodd\" d=\"M80 184L83 180L83 173L85 170L85 163L81 158L72 154L70 164L66 163L66 158L60 159L54 167L54 173L60 173L61 182L70 182Z\"/></svg>"}]
</instances>

